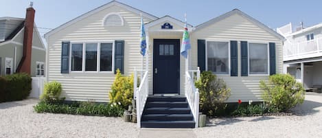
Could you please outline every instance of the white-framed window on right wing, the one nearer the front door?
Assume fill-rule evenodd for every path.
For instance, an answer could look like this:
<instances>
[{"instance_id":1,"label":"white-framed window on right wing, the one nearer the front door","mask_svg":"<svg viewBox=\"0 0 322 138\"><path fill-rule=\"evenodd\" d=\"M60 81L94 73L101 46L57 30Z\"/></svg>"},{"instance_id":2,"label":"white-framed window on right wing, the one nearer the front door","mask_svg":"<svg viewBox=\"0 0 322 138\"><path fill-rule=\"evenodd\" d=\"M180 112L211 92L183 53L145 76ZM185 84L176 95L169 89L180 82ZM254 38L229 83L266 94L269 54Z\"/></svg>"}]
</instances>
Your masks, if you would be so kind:
<instances>
[{"instance_id":1,"label":"white-framed window on right wing, the one nearer the front door","mask_svg":"<svg viewBox=\"0 0 322 138\"><path fill-rule=\"evenodd\" d=\"M229 42L207 41L206 43L206 69L216 74L230 73L230 47Z\"/></svg>"}]
</instances>

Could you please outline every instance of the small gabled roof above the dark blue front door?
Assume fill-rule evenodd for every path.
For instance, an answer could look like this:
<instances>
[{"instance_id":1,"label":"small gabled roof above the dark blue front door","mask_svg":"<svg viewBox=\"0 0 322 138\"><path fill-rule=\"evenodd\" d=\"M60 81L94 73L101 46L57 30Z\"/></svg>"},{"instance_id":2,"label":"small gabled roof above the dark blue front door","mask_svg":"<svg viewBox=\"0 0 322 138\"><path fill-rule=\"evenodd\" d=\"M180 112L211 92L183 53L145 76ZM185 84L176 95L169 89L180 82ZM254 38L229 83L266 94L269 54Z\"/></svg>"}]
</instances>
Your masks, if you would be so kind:
<instances>
[{"instance_id":1,"label":"small gabled roof above the dark blue front door","mask_svg":"<svg viewBox=\"0 0 322 138\"><path fill-rule=\"evenodd\" d=\"M185 27L185 22L183 22L183 21L181 21L179 19L175 19L175 18L173 18L172 16L169 16L169 15L163 16L163 17L161 17L159 19L156 19L154 21L150 21L149 23L146 23L145 27L146 28L152 27L152 26L157 25L159 23L162 23L164 21L171 21L172 23L176 23L177 25L181 25L182 27ZM187 27L192 28L193 26L189 25L189 23L187 23Z\"/></svg>"}]
</instances>

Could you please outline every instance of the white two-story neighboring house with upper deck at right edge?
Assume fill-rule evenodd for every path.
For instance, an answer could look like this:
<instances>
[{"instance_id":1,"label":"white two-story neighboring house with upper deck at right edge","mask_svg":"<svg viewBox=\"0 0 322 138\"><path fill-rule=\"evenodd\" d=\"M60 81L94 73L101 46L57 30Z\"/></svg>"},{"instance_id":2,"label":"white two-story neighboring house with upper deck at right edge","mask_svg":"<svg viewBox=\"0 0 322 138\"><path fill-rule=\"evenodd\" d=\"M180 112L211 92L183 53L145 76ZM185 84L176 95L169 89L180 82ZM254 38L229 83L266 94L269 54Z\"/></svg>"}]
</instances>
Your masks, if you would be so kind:
<instances>
[{"instance_id":1,"label":"white two-story neighboring house with upper deck at right edge","mask_svg":"<svg viewBox=\"0 0 322 138\"><path fill-rule=\"evenodd\" d=\"M292 24L277 28L284 42L284 73L303 83L305 89L322 87L322 23L292 30Z\"/></svg>"}]
</instances>

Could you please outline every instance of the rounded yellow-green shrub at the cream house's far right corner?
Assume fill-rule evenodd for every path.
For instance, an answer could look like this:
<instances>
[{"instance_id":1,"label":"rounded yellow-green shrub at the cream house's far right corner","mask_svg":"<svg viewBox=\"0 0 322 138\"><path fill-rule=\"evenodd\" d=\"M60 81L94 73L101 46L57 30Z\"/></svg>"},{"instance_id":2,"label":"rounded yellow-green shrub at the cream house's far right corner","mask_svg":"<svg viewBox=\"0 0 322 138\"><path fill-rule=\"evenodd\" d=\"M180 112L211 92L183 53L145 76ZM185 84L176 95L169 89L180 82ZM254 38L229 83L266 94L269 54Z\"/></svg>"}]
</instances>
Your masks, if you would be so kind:
<instances>
[{"instance_id":1,"label":"rounded yellow-green shrub at the cream house's far right corner","mask_svg":"<svg viewBox=\"0 0 322 138\"><path fill-rule=\"evenodd\" d=\"M288 111L304 101L305 91L301 83L296 82L290 74L275 74L269 77L269 82L260 82L264 91L262 98L275 111Z\"/></svg>"}]
</instances>

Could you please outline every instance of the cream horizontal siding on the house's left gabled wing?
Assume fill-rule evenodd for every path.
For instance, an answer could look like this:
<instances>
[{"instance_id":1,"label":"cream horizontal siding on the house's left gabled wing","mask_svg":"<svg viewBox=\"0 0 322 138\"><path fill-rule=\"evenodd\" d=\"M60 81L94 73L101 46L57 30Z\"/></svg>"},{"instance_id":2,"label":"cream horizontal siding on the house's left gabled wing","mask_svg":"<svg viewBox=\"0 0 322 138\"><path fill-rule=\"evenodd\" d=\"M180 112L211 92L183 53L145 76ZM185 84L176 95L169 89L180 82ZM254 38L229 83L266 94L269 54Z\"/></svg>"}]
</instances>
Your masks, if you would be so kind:
<instances>
[{"instance_id":1,"label":"cream horizontal siding on the house's left gabled wing","mask_svg":"<svg viewBox=\"0 0 322 138\"><path fill-rule=\"evenodd\" d=\"M104 16L111 12L119 13L124 19L123 26L104 27ZM148 23L149 19L144 19ZM115 79L114 73L60 73L62 41L115 41L124 40L124 73L133 73L134 67L141 68L139 54L140 15L117 5L101 10L82 19L48 38L48 80L62 83L62 96L66 100L94 100L108 102L108 92Z\"/></svg>"}]
</instances>

